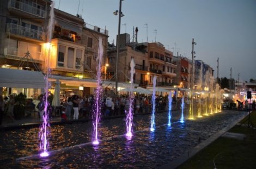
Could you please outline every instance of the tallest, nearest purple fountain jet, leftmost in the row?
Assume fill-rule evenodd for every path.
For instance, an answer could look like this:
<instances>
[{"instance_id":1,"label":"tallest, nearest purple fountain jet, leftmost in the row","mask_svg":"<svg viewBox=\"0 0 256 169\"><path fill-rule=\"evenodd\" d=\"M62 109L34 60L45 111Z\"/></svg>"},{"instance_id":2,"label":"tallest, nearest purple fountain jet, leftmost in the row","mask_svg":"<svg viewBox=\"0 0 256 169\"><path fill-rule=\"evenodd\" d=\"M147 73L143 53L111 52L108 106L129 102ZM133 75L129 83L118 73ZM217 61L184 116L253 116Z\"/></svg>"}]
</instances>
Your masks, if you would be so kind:
<instances>
[{"instance_id":1,"label":"tallest, nearest purple fountain jet, leftmost in the row","mask_svg":"<svg viewBox=\"0 0 256 169\"><path fill-rule=\"evenodd\" d=\"M46 76L45 76L45 96L44 96L44 114L43 114L43 122L40 126L40 132L39 132L39 141L40 141L40 157L47 157L49 155L48 153L48 134L50 132L50 124L48 123L48 115L50 109L48 109L48 89L50 87L50 83L48 82L48 77L50 74L50 68L49 68L49 63L50 63L50 55L51 55L51 39L52 39L52 29L53 29L53 23L54 23L54 2L51 4L51 10L50 10L50 20L48 22L48 58L46 59Z\"/></svg>"}]
</instances>

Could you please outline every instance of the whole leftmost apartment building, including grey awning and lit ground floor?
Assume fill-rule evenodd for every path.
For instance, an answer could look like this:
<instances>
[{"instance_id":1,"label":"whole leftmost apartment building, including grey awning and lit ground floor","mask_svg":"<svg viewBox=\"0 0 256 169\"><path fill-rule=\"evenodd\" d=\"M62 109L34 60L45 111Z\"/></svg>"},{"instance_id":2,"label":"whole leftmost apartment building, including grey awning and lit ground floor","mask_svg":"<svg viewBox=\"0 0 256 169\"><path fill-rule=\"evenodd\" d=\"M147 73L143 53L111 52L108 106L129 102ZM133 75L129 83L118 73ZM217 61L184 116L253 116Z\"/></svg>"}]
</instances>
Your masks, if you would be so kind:
<instances>
[{"instance_id":1,"label":"whole leftmost apartment building, including grey awning and lit ground floor","mask_svg":"<svg viewBox=\"0 0 256 169\"><path fill-rule=\"evenodd\" d=\"M31 96L43 88L44 77L39 71L45 66L50 4L50 0L0 1L0 66L9 68L1 71L9 76L2 79L0 87L6 95L26 91Z\"/></svg>"}]
</instances>

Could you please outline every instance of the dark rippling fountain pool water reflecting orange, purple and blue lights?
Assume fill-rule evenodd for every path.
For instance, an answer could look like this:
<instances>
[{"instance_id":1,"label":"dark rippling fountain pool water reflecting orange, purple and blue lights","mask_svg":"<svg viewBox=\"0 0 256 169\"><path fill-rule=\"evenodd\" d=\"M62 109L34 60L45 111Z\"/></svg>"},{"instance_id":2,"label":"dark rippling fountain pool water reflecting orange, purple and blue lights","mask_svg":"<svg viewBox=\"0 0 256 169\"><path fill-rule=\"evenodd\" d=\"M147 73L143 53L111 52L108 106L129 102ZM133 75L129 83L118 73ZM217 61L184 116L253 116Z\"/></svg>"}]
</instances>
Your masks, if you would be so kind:
<instances>
[{"instance_id":1,"label":"dark rippling fountain pool water reflecting orange, purple and blue lights","mask_svg":"<svg viewBox=\"0 0 256 169\"><path fill-rule=\"evenodd\" d=\"M173 112L172 126L167 126L167 112L156 114L156 130L150 132L150 116L134 118L132 139L125 136L121 118L101 122L101 142L97 146L81 145L91 141L90 122L52 126L50 157L16 161L38 154L38 128L17 129L0 133L0 164L7 168L157 168L179 157L188 149L208 139L245 112L223 111L193 121L179 122L180 112ZM62 149L65 147L72 147Z\"/></svg>"}]
</instances>

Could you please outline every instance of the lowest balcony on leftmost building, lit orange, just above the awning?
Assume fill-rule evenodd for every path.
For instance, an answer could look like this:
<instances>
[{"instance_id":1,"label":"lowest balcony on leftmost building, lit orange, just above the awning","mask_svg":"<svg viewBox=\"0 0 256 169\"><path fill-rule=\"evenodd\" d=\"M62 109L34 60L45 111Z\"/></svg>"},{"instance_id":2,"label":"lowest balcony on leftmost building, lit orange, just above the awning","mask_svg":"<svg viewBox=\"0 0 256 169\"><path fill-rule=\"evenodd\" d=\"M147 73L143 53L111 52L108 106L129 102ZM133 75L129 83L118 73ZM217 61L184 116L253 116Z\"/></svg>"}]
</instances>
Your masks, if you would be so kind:
<instances>
[{"instance_id":1,"label":"lowest balcony on leftmost building, lit orange, just above the awning","mask_svg":"<svg viewBox=\"0 0 256 169\"><path fill-rule=\"evenodd\" d=\"M23 48L16 48L16 47L5 47L4 48L4 55L8 59L16 59L16 60L21 60L22 58L25 58L27 49ZM36 52L36 51L29 51L31 54L31 58L33 58L34 61L40 62L42 61L42 53L41 52ZM29 60L29 61L33 61Z\"/></svg>"}]
</instances>

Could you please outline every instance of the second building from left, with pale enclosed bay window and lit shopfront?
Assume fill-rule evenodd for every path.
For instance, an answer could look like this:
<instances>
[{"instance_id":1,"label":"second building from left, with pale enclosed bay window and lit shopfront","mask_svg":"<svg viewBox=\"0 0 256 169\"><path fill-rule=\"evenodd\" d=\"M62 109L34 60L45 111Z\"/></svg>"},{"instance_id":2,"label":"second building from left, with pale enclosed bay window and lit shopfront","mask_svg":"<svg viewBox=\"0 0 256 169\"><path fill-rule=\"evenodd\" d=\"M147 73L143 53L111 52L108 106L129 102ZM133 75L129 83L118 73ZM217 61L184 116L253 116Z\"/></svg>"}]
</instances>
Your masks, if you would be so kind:
<instances>
[{"instance_id":1,"label":"second building from left, with pale enclosed bay window and lit shopfront","mask_svg":"<svg viewBox=\"0 0 256 169\"><path fill-rule=\"evenodd\" d=\"M55 26L51 41L52 80L59 79L63 89L88 95L96 87L99 39L102 39L102 79L106 76L107 30L85 23L79 16L54 9ZM79 90L79 87L81 90ZM63 93L66 93L63 91Z\"/></svg>"}]
</instances>

